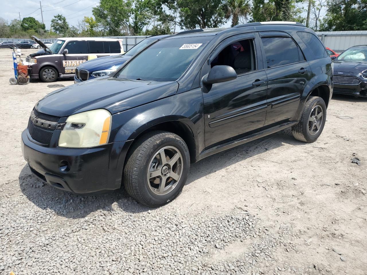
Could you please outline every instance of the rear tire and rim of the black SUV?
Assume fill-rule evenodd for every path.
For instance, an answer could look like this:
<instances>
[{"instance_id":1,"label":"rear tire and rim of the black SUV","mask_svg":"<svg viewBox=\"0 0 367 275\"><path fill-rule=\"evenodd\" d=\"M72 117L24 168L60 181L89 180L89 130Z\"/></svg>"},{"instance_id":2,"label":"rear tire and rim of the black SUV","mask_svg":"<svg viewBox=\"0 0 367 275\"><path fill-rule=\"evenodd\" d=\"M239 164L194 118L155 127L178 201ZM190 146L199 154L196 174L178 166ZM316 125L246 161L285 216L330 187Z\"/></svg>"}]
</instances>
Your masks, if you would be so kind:
<instances>
[{"instance_id":1,"label":"rear tire and rim of the black SUV","mask_svg":"<svg viewBox=\"0 0 367 275\"><path fill-rule=\"evenodd\" d=\"M325 121L326 104L324 100L318 96L310 96L305 104L301 120L297 125L292 126L292 134L300 141L314 142L321 135Z\"/></svg>"}]
</instances>

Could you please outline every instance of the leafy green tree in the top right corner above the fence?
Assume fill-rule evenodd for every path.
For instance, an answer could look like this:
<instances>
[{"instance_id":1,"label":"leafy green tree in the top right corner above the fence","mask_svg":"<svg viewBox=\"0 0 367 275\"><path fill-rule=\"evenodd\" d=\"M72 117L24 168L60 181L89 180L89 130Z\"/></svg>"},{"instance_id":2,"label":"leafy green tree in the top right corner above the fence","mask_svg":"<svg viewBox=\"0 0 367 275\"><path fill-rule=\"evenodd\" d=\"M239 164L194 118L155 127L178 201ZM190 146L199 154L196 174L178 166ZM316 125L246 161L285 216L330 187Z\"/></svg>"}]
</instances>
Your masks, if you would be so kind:
<instances>
[{"instance_id":1,"label":"leafy green tree in the top right corner above the fence","mask_svg":"<svg viewBox=\"0 0 367 275\"><path fill-rule=\"evenodd\" d=\"M367 28L366 0L328 0L327 7L320 30L365 30Z\"/></svg>"}]
</instances>

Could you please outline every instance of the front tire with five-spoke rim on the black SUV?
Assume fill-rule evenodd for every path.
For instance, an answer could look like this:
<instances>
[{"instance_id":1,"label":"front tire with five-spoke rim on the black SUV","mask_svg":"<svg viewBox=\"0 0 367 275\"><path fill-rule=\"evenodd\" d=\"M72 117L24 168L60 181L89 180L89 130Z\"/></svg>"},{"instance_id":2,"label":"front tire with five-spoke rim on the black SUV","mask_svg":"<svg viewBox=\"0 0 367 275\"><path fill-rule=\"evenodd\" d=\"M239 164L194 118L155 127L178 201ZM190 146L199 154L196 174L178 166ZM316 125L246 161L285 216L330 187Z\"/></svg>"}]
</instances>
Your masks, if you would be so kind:
<instances>
[{"instance_id":1,"label":"front tire with five-spoke rim on the black SUV","mask_svg":"<svg viewBox=\"0 0 367 275\"><path fill-rule=\"evenodd\" d=\"M162 151L166 164L160 157ZM171 132L152 131L138 139L129 151L123 172L124 186L139 203L149 207L162 206L181 193L189 169L189 149L181 137ZM170 177L173 175L177 180ZM164 187L163 179L166 182Z\"/></svg>"}]
</instances>

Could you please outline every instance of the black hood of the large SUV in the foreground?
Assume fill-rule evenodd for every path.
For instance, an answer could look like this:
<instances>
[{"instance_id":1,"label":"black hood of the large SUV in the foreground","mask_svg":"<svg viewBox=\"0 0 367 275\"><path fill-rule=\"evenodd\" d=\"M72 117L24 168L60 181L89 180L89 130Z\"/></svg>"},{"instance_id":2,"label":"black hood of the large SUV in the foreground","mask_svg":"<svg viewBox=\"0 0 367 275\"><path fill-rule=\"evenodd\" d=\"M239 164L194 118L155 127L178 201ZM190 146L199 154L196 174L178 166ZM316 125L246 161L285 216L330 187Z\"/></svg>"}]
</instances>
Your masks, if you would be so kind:
<instances>
[{"instance_id":1,"label":"black hood of the large SUV in the foreground","mask_svg":"<svg viewBox=\"0 0 367 275\"><path fill-rule=\"evenodd\" d=\"M139 81L109 76L70 85L46 95L36 110L58 117L95 109L115 114L167 96L175 95L175 81Z\"/></svg>"}]
</instances>

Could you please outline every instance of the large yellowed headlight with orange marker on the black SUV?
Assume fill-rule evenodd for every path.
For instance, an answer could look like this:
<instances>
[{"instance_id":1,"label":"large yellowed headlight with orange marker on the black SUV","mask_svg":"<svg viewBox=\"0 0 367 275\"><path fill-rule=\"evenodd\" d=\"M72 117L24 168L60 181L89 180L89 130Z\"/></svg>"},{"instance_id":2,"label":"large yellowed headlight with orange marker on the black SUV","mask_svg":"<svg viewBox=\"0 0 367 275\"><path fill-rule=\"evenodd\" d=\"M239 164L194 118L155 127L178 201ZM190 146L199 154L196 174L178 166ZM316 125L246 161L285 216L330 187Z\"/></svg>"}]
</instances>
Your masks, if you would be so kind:
<instances>
[{"instance_id":1,"label":"large yellowed headlight with orange marker on the black SUV","mask_svg":"<svg viewBox=\"0 0 367 275\"><path fill-rule=\"evenodd\" d=\"M86 148L108 142L112 116L99 109L70 115L59 137L59 147Z\"/></svg>"}]
</instances>

